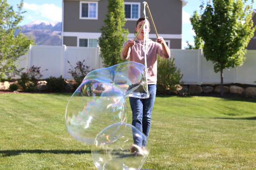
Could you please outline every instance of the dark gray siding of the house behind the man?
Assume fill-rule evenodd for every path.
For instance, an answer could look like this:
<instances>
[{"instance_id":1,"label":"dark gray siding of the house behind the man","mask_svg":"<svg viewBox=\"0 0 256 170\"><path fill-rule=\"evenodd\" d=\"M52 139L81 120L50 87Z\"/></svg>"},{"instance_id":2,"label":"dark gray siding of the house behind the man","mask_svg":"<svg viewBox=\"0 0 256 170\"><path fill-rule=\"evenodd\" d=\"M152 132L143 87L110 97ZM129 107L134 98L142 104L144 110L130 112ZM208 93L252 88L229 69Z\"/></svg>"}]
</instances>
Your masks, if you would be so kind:
<instances>
[{"instance_id":1,"label":"dark gray siding of the house behind the man","mask_svg":"<svg viewBox=\"0 0 256 170\"><path fill-rule=\"evenodd\" d=\"M98 19L83 20L79 19L80 1L64 0L63 31L77 33L100 33L100 28L104 25L103 19L106 18L106 14L108 13L108 0L99 0L96 2L98 2ZM140 17L144 17L143 1L125 0L125 2L140 2ZM182 2L180 0L147 0L146 2L150 8L158 34L182 34ZM150 34L155 34L147 9L146 16L149 18L151 25ZM128 28L130 34L134 34L135 27L136 21L127 20L124 28ZM75 38L77 40L77 37L71 38L64 36L63 43L65 45L69 44L67 46L77 46L77 41ZM170 40L170 48L181 49L181 38L163 38L165 40ZM72 39L72 41L68 42L70 39Z\"/></svg>"}]
</instances>

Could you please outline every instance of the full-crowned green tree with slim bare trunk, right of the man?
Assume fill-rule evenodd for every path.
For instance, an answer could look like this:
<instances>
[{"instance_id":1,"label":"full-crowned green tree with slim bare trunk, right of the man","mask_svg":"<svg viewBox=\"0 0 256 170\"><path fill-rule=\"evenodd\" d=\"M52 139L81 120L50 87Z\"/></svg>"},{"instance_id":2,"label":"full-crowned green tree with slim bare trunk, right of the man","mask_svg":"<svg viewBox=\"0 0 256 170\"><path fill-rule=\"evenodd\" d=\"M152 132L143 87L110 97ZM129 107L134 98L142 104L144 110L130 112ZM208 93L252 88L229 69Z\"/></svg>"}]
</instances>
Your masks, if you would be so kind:
<instances>
[{"instance_id":1,"label":"full-crowned green tree with slim bare trunk, right of the man","mask_svg":"<svg viewBox=\"0 0 256 170\"><path fill-rule=\"evenodd\" d=\"M204 41L204 56L214 64L215 73L221 74L223 95L223 70L241 66L244 54L255 28L252 21L252 5L248 0L208 0L201 5L202 14L196 11L191 24L197 37Z\"/></svg>"}]
</instances>

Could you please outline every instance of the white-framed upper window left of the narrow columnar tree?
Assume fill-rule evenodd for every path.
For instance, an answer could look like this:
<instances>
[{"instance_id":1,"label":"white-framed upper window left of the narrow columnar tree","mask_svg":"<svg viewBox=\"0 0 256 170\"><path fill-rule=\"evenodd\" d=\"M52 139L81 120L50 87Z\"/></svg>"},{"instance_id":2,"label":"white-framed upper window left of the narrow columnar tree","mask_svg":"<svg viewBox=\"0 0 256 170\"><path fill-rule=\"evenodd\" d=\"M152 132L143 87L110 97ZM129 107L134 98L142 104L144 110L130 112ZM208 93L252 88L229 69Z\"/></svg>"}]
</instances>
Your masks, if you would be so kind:
<instances>
[{"instance_id":1,"label":"white-framed upper window left of the narrow columnar tree","mask_svg":"<svg viewBox=\"0 0 256 170\"><path fill-rule=\"evenodd\" d=\"M97 20L98 2L80 1L80 19Z\"/></svg>"}]
</instances>

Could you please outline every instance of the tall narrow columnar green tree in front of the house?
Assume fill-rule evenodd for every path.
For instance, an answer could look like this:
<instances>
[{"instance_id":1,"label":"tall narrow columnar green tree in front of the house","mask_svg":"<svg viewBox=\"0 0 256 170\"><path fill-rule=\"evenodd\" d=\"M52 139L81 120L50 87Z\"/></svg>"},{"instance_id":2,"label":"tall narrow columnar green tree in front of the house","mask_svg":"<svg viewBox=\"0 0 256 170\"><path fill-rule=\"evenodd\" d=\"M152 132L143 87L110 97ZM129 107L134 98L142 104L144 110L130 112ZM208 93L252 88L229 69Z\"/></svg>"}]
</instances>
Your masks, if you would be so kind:
<instances>
[{"instance_id":1,"label":"tall narrow columnar green tree in front of the house","mask_svg":"<svg viewBox=\"0 0 256 170\"><path fill-rule=\"evenodd\" d=\"M128 30L122 28L125 26L124 0L108 0L106 17L105 26L100 29L99 46L104 66L110 67L123 62L120 54L128 35Z\"/></svg>"}]
</instances>

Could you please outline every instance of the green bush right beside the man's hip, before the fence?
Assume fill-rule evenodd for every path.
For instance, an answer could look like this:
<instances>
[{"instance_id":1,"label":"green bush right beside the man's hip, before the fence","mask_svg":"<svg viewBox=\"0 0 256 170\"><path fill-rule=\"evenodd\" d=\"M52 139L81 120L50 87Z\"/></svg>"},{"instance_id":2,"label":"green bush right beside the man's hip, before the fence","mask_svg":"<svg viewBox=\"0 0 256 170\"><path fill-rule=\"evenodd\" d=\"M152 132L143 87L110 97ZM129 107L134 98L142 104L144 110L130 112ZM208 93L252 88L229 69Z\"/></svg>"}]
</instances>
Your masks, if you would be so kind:
<instances>
[{"instance_id":1,"label":"green bush right beside the man's hip, before the fence","mask_svg":"<svg viewBox=\"0 0 256 170\"><path fill-rule=\"evenodd\" d=\"M157 93L177 93L177 85L183 85L182 77L180 68L175 66L174 57L164 59L157 56Z\"/></svg>"}]
</instances>

